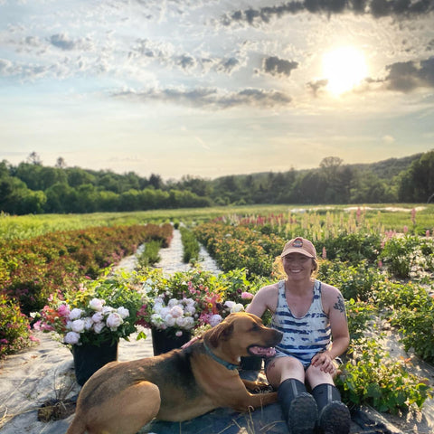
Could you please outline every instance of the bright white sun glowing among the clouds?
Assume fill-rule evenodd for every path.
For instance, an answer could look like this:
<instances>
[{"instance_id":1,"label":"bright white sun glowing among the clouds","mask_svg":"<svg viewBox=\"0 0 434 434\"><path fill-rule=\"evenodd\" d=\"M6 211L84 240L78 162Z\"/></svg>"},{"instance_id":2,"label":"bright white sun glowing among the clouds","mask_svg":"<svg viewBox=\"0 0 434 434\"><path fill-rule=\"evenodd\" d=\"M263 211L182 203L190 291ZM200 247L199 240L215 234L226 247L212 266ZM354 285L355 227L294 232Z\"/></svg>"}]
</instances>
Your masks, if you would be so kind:
<instances>
[{"instance_id":1,"label":"bright white sun glowing among the clouds","mask_svg":"<svg viewBox=\"0 0 434 434\"><path fill-rule=\"evenodd\" d=\"M367 76L363 52L354 47L340 47L323 56L323 74L327 90L335 95L354 89Z\"/></svg>"}]
</instances>

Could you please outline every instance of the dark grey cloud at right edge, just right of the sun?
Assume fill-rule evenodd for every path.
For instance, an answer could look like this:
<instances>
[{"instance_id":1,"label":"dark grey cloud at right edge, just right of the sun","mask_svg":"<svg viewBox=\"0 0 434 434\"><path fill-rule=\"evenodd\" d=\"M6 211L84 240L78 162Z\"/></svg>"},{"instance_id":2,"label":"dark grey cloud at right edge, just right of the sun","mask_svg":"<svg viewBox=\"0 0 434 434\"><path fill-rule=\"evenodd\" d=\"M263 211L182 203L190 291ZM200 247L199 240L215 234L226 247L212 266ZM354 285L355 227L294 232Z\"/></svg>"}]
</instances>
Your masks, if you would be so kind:
<instances>
[{"instance_id":1,"label":"dark grey cloud at right edge, just right of the sun","mask_svg":"<svg viewBox=\"0 0 434 434\"><path fill-rule=\"evenodd\" d=\"M400 61L386 67L384 80L389 90L410 92L417 88L434 88L434 56L423 61Z\"/></svg>"}]
</instances>

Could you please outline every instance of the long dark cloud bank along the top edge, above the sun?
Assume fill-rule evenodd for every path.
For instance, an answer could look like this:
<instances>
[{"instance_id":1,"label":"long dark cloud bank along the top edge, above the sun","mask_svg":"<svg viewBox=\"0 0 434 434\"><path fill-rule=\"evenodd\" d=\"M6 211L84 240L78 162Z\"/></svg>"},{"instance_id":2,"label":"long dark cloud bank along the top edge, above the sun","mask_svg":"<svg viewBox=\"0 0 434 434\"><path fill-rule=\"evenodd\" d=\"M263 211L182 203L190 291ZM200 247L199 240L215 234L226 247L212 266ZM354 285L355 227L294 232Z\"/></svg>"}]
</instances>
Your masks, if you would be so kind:
<instances>
[{"instance_id":1,"label":"long dark cloud bank along the top edge, above the sun","mask_svg":"<svg viewBox=\"0 0 434 434\"><path fill-rule=\"evenodd\" d=\"M222 24L232 23L260 24L269 23L272 18L280 18L285 14L299 12L311 14L372 14L376 18L382 16L411 17L428 14L434 11L434 0L302 0L288 2L283 5L266 6L259 9L249 8L234 11L222 17Z\"/></svg>"}]
</instances>

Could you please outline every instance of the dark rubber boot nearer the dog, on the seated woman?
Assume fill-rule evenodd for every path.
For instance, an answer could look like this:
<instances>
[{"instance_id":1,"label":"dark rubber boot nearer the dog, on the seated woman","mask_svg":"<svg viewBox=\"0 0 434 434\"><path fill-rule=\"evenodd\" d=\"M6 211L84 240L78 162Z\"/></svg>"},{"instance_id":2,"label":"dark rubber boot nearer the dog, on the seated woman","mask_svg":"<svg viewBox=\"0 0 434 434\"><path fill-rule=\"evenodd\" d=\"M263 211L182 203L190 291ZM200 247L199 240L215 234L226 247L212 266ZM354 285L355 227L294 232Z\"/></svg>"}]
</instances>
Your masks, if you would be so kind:
<instances>
[{"instance_id":1,"label":"dark rubber boot nearer the dog, on the seated woman","mask_svg":"<svg viewBox=\"0 0 434 434\"><path fill-rule=\"evenodd\" d=\"M314 397L306 392L303 382L288 378L278 386L278 401L288 425L289 434L312 434L318 419Z\"/></svg>"}]
</instances>

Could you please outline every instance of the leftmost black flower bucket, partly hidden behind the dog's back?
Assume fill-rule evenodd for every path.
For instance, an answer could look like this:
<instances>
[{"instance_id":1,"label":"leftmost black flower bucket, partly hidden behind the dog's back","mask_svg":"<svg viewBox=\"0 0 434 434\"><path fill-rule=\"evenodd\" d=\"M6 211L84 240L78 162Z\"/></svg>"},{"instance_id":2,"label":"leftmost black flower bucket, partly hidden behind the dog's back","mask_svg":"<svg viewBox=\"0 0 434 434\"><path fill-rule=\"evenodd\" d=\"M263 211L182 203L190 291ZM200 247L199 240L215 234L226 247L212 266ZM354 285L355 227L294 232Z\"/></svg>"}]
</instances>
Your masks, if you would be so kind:
<instances>
[{"instance_id":1,"label":"leftmost black flower bucket, partly hidden behind the dog's back","mask_svg":"<svg viewBox=\"0 0 434 434\"><path fill-rule=\"evenodd\" d=\"M99 368L118 359L118 342L113 344L109 341L100 346L72 345L72 355L74 356L75 378L82 386Z\"/></svg>"}]
</instances>

